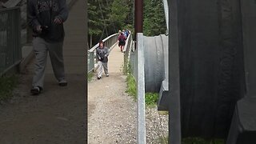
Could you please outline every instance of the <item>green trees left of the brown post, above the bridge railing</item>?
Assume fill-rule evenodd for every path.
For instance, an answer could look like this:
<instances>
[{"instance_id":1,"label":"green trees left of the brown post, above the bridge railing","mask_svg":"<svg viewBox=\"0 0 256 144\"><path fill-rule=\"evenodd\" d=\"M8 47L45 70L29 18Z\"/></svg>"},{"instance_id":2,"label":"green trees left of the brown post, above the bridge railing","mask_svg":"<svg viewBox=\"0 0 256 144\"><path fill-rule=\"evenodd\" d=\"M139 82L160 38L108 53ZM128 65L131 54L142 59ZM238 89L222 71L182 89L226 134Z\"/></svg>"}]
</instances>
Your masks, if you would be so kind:
<instances>
[{"instance_id":1,"label":"green trees left of the brown post, above the bridge railing","mask_svg":"<svg viewBox=\"0 0 256 144\"><path fill-rule=\"evenodd\" d=\"M89 37L94 46L98 40L117 33L127 24L132 10L132 0L89 0L88 2ZM130 22L130 23L129 23ZM90 41L89 41L90 42Z\"/></svg>"}]
</instances>

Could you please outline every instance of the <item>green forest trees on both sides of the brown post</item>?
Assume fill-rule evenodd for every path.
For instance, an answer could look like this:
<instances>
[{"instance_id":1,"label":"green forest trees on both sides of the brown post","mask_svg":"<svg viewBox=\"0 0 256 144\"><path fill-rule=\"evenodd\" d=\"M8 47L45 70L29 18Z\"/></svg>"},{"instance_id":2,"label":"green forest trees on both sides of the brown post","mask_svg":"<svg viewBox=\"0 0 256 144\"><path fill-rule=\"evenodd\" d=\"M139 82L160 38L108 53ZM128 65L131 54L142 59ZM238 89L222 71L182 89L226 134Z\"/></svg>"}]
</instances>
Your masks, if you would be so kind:
<instances>
[{"instance_id":1,"label":"green forest trees on both sides of the brown post","mask_svg":"<svg viewBox=\"0 0 256 144\"><path fill-rule=\"evenodd\" d=\"M162 1L144 0L143 14L144 35L166 33ZM91 46L118 30L128 29L134 32L134 0L89 0L88 17Z\"/></svg>"}]
</instances>

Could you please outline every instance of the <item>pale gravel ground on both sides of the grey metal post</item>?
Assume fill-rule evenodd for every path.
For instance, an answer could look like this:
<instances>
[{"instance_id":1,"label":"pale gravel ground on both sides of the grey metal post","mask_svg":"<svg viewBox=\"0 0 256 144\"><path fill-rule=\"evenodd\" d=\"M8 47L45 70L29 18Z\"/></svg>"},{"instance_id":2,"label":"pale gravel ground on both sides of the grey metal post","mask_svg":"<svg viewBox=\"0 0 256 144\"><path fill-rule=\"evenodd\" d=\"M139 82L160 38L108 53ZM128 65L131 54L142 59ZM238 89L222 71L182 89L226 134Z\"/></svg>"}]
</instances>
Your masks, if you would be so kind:
<instances>
[{"instance_id":1,"label":"pale gravel ground on both sides of the grey metal post","mask_svg":"<svg viewBox=\"0 0 256 144\"><path fill-rule=\"evenodd\" d=\"M126 77L113 74L88 83L88 143L136 143L136 102L125 93ZM146 109L146 143L168 135L168 115Z\"/></svg>"}]
</instances>

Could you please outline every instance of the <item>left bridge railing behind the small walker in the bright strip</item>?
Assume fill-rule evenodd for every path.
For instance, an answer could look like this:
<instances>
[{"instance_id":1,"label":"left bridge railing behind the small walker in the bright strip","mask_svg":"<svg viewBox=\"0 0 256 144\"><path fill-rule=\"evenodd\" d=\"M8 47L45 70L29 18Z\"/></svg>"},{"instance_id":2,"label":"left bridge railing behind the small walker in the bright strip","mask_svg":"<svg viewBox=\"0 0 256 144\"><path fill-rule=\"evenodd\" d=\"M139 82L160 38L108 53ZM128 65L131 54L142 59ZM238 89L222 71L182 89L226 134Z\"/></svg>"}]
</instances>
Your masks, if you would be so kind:
<instances>
[{"instance_id":1,"label":"left bridge railing behind the small walker in the bright strip","mask_svg":"<svg viewBox=\"0 0 256 144\"><path fill-rule=\"evenodd\" d=\"M110 50L112 50L112 48L118 42L118 34L112 34L109 37L103 39L102 41L105 42L105 46L107 46ZM95 64L97 63L97 59L96 59L97 47L98 47L98 43L87 52L87 56L88 56L87 73L90 73L91 71L93 71Z\"/></svg>"}]
</instances>

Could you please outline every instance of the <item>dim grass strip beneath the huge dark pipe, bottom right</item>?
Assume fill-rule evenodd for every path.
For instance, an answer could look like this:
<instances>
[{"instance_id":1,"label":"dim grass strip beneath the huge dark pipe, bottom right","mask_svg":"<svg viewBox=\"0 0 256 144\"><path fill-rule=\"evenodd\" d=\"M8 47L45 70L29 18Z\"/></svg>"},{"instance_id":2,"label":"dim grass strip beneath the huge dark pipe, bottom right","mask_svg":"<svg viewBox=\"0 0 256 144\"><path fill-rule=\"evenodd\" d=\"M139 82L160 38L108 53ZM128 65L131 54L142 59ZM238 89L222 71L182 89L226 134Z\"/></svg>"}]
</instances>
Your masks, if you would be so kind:
<instances>
[{"instance_id":1,"label":"dim grass strip beneath the huge dark pipe, bottom right","mask_svg":"<svg viewBox=\"0 0 256 144\"><path fill-rule=\"evenodd\" d=\"M182 144L224 144L223 139L182 138Z\"/></svg>"}]
</instances>

